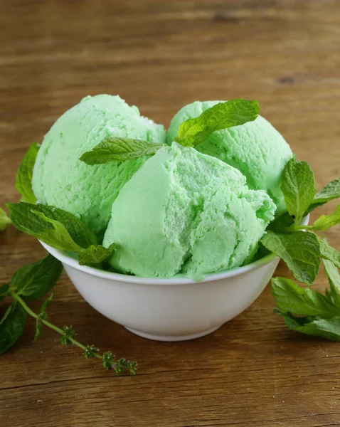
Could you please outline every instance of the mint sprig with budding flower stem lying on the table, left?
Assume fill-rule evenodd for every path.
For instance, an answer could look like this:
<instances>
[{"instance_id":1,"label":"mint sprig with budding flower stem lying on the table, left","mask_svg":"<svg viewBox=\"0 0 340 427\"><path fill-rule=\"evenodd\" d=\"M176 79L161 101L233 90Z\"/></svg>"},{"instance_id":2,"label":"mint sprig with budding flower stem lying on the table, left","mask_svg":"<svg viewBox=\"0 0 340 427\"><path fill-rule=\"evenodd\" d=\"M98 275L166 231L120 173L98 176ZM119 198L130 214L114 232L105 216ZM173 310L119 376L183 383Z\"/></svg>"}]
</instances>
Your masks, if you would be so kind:
<instances>
[{"instance_id":1,"label":"mint sprig with budding flower stem lying on the table, left","mask_svg":"<svg viewBox=\"0 0 340 427\"><path fill-rule=\"evenodd\" d=\"M75 339L73 327L64 326L59 328L48 321L47 307L53 300L54 292L43 302L39 313L33 312L27 305L28 300L45 296L55 287L63 266L60 261L55 260L51 255L43 260L24 265L20 270L14 273L11 285L0 286L1 299L8 297L11 299L11 305L6 310L0 320L0 354L4 354L17 342L26 323L27 315L36 319L36 334L34 340L41 336L43 327L46 326L60 334L60 344L74 344L79 347L83 355L100 359L105 369L112 369L116 374L128 372L132 375L137 372L137 363L130 362L127 359L115 359L112 352L103 352L94 345L81 344Z\"/></svg>"}]
</instances>

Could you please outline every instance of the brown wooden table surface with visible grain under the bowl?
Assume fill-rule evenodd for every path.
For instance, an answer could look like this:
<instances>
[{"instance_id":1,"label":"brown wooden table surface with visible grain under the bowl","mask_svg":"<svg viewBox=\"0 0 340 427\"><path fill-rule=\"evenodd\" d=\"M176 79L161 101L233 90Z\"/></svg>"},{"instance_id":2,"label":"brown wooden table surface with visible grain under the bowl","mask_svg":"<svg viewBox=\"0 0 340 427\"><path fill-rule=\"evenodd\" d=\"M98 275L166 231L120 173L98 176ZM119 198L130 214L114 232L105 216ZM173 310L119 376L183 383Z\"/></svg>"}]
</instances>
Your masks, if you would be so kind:
<instances>
[{"instance_id":1,"label":"brown wooden table surface with visible grain under the bowl","mask_svg":"<svg viewBox=\"0 0 340 427\"><path fill-rule=\"evenodd\" d=\"M111 93L169 124L196 99L260 100L314 169L340 175L337 0L0 1L0 202L33 141L87 94ZM329 204L323 213L334 209ZM340 248L339 228L327 233ZM43 248L9 228L0 283ZM287 275L282 265L279 275ZM324 288L320 275L317 288ZM115 377L33 321L0 357L1 427L340 426L340 344L295 334L267 287L242 315L191 342L152 342L95 312L63 275L49 310L83 342L137 359ZM38 310L38 302L33 303Z\"/></svg>"}]
</instances>

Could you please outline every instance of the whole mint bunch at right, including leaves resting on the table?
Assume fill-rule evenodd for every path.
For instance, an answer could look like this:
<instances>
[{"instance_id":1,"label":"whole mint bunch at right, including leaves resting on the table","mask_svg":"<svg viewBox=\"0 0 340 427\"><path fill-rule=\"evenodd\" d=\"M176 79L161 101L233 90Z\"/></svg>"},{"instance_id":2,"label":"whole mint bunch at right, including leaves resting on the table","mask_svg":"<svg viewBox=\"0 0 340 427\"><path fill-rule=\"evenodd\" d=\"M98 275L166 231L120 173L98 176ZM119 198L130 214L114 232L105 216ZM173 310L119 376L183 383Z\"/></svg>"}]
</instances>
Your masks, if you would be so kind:
<instances>
[{"instance_id":1,"label":"whole mint bunch at right, including leaves resting on the table","mask_svg":"<svg viewBox=\"0 0 340 427\"><path fill-rule=\"evenodd\" d=\"M292 280L272 279L272 295L277 309L289 329L302 334L340 341L340 252L314 232L340 223L340 205L330 215L322 215L310 226L300 224L302 217L329 200L340 196L340 179L331 181L315 194L312 169L306 162L292 158L282 174L282 193L287 212L276 218L262 237L261 243L280 256L294 277L312 285L324 261L329 289L322 294L302 288ZM307 231L302 231L307 230Z\"/></svg>"}]
</instances>

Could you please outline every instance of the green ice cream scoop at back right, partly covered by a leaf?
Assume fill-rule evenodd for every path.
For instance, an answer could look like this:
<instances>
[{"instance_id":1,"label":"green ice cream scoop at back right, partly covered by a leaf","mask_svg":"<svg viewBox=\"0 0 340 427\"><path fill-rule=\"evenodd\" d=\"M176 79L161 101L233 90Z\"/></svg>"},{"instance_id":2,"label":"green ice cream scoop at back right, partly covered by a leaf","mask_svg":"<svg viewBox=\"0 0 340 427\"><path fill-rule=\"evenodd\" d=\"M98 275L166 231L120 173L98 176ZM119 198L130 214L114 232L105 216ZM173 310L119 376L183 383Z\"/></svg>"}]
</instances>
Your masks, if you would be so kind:
<instances>
[{"instance_id":1,"label":"green ice cream scoop at back right, partly covered by a leaf","mask_svg":"<svg viewBox=\"0 0 340 427\"><path fill-rule=\"evenodd\" d=\"M218 102L221 101L196 101L181 108L171 120L166 142L171 144L174 141L182 122L198 117ZM281 175L285 164L292 158L292 150L275 127L263 117L259 116L254 122L242 126L213 132L196 149L240 170L250 189L267 191L277 210L285 209L280 189Z\"/></svg>"}]
</instances>

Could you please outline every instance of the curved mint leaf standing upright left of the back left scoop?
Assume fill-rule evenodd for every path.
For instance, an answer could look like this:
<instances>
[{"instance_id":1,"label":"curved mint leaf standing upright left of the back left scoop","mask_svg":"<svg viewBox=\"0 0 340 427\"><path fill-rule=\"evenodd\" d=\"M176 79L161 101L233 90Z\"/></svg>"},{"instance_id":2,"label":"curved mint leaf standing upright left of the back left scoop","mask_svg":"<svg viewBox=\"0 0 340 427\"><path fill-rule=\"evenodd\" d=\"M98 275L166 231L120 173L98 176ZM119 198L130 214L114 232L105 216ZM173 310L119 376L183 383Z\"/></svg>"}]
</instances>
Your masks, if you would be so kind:
<instances>
[{"instance_id":1,"label":"curved mint leaf standing upright left of the back left scoop","mask_svg":"<svg viewBox=\"0 0 340 427\"><path fill-rule=\"evenodd\" d=\"M32 190L32 176L33 167L36 163L36 156L38 154L40 145L33 142L26 152L21 165L18 167L16 172L16 189L28 201L28 203L36 203L36 196L34 196Z\"/></svg>"}]
</instances>

